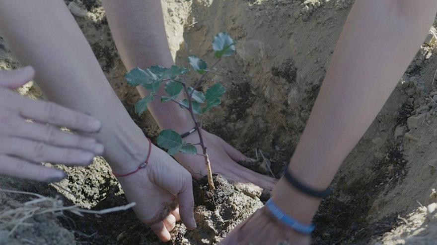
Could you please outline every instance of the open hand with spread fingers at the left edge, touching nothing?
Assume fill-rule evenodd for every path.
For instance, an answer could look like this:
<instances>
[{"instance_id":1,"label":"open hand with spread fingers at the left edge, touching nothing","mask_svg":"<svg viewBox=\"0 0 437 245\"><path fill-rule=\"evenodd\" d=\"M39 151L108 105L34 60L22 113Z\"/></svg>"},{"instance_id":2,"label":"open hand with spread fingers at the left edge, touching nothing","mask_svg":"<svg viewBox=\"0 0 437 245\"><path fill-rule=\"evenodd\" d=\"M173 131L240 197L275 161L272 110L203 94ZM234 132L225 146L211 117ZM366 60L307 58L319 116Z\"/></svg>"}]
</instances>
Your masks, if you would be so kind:
<instances>
[{"instance_id":1,"label":"open hand with spread fingers at the left edge, touching nothing","mask_svg":"<svg viewBox=\"0 0 437 245\"><path fill-rule=\"evenodd\" d=\"M11 90L32 80L34 74L30 66L0 71L0 175L58 182L65 173L39 163L89 164L95 155L103 153L103 145L56 126L93 133L101 123L80 112L24 98Z\"/></svg>"}]
</instances>

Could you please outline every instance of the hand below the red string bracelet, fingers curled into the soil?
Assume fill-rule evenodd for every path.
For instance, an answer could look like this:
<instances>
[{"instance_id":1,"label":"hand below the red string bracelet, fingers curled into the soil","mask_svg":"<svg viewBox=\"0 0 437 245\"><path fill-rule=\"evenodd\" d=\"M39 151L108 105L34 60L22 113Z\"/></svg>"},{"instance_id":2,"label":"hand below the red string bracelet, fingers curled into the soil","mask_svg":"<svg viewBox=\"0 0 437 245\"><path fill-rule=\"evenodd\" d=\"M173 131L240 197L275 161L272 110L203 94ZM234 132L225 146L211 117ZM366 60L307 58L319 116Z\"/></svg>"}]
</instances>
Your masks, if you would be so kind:
<instances>
[{"instance_id":1,"label":"hand below the red string bracelet, fingers curled into the soil","mask_svg":"<svg viewBox=\"0 0 437 245\"><path fill-rule=\"evenodd\" d=\"M196 228L192 178L166 152L151 146L146 167L118 180L128 200L137 203L134 211L138 218L167 242L176 221L182 220L188 229ZM133 170L126 169L126 173Z\"/></svg>"}]
</instances>

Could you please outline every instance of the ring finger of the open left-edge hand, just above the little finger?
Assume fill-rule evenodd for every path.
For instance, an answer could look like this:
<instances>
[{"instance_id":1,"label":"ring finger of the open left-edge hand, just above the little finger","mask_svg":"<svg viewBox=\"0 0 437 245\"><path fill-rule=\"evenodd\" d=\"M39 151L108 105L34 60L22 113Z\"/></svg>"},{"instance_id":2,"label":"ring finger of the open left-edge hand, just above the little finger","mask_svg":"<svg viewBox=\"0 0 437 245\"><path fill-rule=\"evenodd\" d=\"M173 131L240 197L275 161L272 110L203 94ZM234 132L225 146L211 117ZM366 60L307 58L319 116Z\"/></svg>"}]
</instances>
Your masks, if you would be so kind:
<instances>
[{"instance_id":1,"label":"ring finger of the open left-edge hand, just above the little finger","mask_svg":"<svg viewBox=\"0 0 437 245\"><path fill-rule=\"evenodd\" d=\"M89 151L55 147L43 142L15 137L8 138L1 151L2 154L24 158L31 162L87 165L94 158L94 154Z\"/></svg>"}]
</instances>

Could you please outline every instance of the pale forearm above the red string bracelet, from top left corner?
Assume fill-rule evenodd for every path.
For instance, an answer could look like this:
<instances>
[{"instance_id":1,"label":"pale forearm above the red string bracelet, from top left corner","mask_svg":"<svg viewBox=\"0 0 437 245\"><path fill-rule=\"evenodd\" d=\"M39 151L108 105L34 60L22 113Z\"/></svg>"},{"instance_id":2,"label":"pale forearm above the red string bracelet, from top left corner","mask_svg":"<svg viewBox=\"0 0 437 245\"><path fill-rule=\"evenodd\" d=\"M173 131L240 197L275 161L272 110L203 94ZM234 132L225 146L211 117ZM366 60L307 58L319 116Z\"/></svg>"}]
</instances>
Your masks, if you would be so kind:
<instances>
[{"instance_id":1,"label":"pale forearm above the red string bracelet, from top left corner","mask_svg":"<svg viewBox=\"0 0 437 245\"><path fill-rule=\"evenodd\" d=\"M146 139L106 80L62 0L1 1L0 30L22 64L36 70L45 96L102 122L96 138L115 169L143 158Z\"/></svg>"}]
</instances>

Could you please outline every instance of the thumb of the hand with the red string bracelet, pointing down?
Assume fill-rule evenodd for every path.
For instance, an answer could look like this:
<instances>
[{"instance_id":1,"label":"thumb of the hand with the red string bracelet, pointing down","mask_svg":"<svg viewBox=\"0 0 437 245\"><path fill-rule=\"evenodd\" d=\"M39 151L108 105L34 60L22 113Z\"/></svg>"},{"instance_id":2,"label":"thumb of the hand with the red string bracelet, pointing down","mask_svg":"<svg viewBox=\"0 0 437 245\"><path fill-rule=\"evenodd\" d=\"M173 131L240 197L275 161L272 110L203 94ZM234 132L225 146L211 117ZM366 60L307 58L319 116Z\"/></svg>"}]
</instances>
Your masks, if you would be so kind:
<instances>
[{"instance_id":1,"label":"thumb of the hand with the red string bracelet, pointing down","mask_svg":"<svg viewBox=\"0 0 437 245\"><path fill-rule=\"evenodd\" d=\"M182 192L178 194L179 214L181 221L188 229L196 229L196 220L194 219L194 196L192 182L188 182Z\"/></svg>"}]
</instances>

